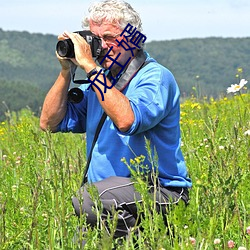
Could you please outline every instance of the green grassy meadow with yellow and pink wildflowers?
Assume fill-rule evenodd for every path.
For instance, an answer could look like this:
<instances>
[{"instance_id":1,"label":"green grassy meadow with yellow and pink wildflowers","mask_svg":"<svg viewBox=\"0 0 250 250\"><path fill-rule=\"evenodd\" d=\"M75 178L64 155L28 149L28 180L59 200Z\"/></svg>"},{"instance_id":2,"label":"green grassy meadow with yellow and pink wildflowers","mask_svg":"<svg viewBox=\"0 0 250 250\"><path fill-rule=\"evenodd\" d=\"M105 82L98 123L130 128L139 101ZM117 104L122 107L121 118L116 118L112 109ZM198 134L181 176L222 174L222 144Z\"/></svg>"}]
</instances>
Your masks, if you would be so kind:
<instances>
[{"instance_id":1,"label":"green grassy meadow with yellow and pink wildflowers","mask_svg":"<svg viewBox=\"0 0 250 250\"><path fill-rule=\"evenodd\" d=\"M166 226L142 183L143 230L117 242L115 222L108 221L111 235L99 222L98 230L86 233L85 249L250 249L249 103L247 92L185 100L182 150L193 181L190 204L171 208ZM85 221L75 217L71 197L85 163L84 135L42 132L29 109L6 113L0 124L0 249L81 249L76 228ZM140 166L143 157L127 164Z\"/></svg>"}]
</instances>

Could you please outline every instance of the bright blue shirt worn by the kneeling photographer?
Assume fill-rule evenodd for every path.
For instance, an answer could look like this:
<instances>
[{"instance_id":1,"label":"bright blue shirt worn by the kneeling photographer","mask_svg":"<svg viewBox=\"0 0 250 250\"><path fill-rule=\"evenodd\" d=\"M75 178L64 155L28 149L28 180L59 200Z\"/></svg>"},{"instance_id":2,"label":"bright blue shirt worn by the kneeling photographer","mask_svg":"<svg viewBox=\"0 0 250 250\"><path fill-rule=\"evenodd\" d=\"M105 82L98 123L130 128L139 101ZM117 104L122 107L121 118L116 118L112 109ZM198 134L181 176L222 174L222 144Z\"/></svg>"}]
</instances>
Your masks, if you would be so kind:
<instances>
[{"instance_id":1,"label":"bright blue shirt worn by the kneeling photographer","mask_svg":"<svg viewBox=\"0 0 250 250\"><path fill-rule=\"evenodd\" d=\"M151 152L157 153L157 171L163 186L191 187L187 168L181 152L180 137L180 91L172 73L153 58L122 91L129 99L135 120L127 132L117 129L107 117L92 153L88 181L96 182L109 176L129 177L130 170L121 161L144 155L152 168L146 150L145 139L150 142ZM58 131L84 133L87 135L87 155L103 109L95 92L88 85L81 85L84 99L68 103L67 113ZM105 94L104 94L105 98Z\"/></svg>"}]
</instances>

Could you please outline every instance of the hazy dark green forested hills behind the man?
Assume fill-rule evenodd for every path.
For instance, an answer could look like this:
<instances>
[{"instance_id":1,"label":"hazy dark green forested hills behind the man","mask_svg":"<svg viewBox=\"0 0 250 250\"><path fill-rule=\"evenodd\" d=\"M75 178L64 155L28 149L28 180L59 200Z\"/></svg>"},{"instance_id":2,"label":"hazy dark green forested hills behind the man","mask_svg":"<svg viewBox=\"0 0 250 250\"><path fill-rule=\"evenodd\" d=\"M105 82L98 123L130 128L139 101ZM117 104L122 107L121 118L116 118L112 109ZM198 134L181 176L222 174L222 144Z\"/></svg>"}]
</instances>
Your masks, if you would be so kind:
<instances>
[{"instance_id":1,"label":"hazy dark green forested hills behind the man","mask_svg":"<svg viewBox=\"0 0 250 250\"><path fill-rule=\"evenodd\" d=\"M0 29L0 120L8 109L26 106L39 114L60 70L56 42L54 35ZM146 50L173 72L184 99L194 93L225 95L225 87L237 83L238 68L250 78L250 38L153 41L146 43Z\"/></svg>"}]
</instances>

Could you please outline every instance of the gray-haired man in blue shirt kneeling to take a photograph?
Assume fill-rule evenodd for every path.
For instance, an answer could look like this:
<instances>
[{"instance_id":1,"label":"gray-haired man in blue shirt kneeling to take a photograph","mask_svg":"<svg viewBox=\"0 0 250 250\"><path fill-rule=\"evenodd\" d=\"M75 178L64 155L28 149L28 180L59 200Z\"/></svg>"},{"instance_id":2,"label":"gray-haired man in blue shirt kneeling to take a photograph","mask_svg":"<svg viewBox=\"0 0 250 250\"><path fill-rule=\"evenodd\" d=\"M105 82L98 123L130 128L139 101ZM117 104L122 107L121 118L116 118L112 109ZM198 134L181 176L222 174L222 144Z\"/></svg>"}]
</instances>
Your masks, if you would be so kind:
<instances>
[{"instance_id":1,"label":"gray-haired man in blue shirt kneeling to take a photograph","mask_svg":"<svg viewBox=\"0 0 250 250\"><path fill-rule=\"evenodd\" d=\"M62 69L45 98L40 119L43 130L86 132L87 155L91 156L87 181L99 192L103 220L107 215L112 219L114 209L119 210L115 237L128 234L135 226L136 202L141 201L122 158L130 162L136 156L144 155L143 164L149 171L158 173L157 208L161 211L166 211L171 202L183 200L188 203L188 188L191 187L180 149L178 86L169 70L144 52L142 43L133 50L122 46L124 39L130 48L135 47L135 41L126 39L128 34L123 32L128 24L138 32L142 31L138 13L128 3L119 0L95 3L84 21L84 26L102 40L103 51L98 61L108 69L107 77L92 58L90 46L83 37L70 32L59 37L60 40L72 40L75 58L57 55ZM92 83L91 87L80 87L84 93L80 103L68 101L73 65L84 70ZM106 86L102 84L104 80ZM103 112L107 118L91 152ZM150 162L146 140L151 151L157 153L156 166ZM82 204L78 198L73 198L76 214L85 214L87 223L95 226L94 203L86 185L82 186L80 195Z\"/></svg>"}]
</instances>

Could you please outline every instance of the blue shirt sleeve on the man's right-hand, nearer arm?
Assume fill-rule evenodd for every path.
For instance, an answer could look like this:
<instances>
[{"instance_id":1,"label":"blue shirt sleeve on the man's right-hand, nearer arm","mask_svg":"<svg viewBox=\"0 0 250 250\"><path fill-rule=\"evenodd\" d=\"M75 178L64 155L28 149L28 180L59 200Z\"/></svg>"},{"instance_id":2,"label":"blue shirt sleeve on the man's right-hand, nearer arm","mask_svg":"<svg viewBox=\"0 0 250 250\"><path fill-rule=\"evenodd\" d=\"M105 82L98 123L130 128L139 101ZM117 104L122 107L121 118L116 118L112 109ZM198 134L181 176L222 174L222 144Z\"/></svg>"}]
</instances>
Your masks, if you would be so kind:
<instances>
[{"instance_id":1,"label":"blue shirt sleeve on the man's right-hand, nearer arm","mask_svg":"<svg viewBox=\"0 0 250 250\"><path fill-rule=\"evenodd\" d=\"M124 135L155 127L178 105L180 93L172 73L157 63L152 64L142 69L133 90L126 94L135 120L128 131L121 132Z\"/></svg>"}]
</instances>

